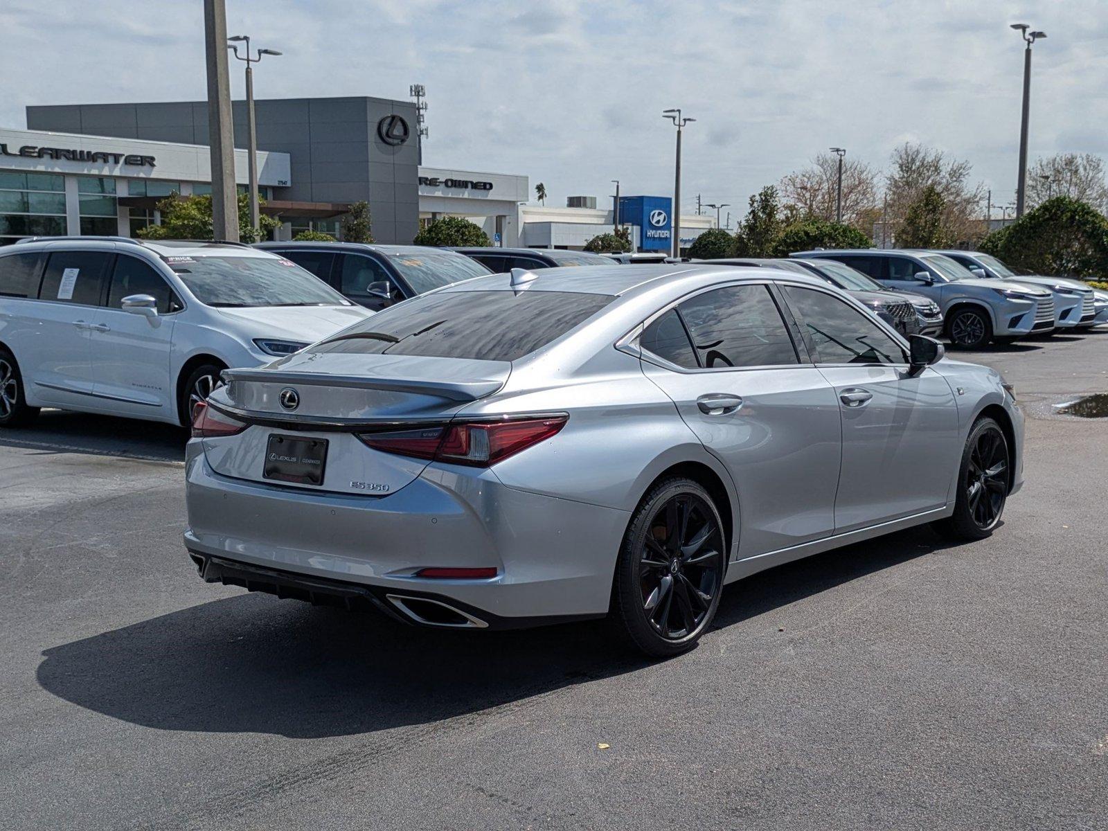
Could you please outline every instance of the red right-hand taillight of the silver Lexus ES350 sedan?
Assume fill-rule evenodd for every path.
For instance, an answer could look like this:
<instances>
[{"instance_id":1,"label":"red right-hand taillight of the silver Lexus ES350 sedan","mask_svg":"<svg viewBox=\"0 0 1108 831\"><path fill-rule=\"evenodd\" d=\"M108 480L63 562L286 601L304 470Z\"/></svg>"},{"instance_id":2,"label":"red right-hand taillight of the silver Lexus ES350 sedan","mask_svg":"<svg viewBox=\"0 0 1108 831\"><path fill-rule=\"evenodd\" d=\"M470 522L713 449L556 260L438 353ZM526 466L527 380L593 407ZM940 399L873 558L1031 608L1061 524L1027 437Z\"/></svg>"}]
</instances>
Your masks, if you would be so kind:
<instances>
[{"instance_id":1,"label":"red right-hand taillight of the silver Lexus ES350 sedan","mask_svg":"<svg viewBox=\"0 0 1108 831\"><path fill-rule=\"evenodd\" d=\"M464 421L445 427L359 435L373 450L488 468L558 432L568 416Z\"/></svg>"}]
</instances>

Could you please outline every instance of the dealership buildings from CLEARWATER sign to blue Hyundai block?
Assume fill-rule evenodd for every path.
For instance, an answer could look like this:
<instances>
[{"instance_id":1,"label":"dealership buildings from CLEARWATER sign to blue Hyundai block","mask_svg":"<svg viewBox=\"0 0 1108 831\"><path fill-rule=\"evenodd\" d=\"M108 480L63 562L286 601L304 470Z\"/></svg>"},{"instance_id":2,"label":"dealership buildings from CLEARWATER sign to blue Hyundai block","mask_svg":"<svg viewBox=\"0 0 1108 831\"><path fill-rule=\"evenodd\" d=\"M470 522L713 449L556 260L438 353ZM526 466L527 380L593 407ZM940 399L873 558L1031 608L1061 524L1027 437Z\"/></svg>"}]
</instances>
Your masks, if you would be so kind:
<instances>
[{"instance_id":1,"label":"dealership buildings from CLEARWATER sign to blue Hyundai block","mask_svg":"<svg viewBox=\"0 0 1108 831\"><path fill-rule=\"evenodd\" d=\"M527 176L422 165L413 102L378 98L256 102L258 185L279 238L309 228L340 236L351 203L367 202L379 243L411 243L421 224L461 216L503 246L581 248L613 229L614 211L576 197L526 205ZM236 145L246 106L234 103ZM206 102L27 107L27 130L0 129L0 244L34 235L135 236L161 222L157 204L211 193ZM235 151L235 179L247 182ZM668 197L620 199L637 247L668 250ZM687 246L714 222L683 217Z\"/></svg>"}]
</instances>

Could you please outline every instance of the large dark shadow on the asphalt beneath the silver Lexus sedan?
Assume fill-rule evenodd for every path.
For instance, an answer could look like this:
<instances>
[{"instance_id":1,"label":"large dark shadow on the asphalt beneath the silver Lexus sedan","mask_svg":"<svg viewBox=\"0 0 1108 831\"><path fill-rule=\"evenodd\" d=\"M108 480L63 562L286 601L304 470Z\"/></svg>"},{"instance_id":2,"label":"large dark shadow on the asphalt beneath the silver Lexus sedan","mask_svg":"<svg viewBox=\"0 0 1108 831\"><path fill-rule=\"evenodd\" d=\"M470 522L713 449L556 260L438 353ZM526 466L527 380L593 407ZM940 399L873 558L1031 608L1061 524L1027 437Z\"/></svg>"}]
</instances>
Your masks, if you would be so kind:
<instances>
[{"instance_id":1,"label":"large dark shadow on the asphalt beneath the silver Lexus sedan","mask_svg":"<svg viewBox=\"0 0 1108 831\"><path fill-rule=\"evenodd\" d=\"M943 546L922 529L763 572L728 587L716 628ZM441 724L649 664L612 638L604 622L431 630L248 594L43 655L38 681L45 690L112 718L290 738Z\"/></svg>"}]
</instances>

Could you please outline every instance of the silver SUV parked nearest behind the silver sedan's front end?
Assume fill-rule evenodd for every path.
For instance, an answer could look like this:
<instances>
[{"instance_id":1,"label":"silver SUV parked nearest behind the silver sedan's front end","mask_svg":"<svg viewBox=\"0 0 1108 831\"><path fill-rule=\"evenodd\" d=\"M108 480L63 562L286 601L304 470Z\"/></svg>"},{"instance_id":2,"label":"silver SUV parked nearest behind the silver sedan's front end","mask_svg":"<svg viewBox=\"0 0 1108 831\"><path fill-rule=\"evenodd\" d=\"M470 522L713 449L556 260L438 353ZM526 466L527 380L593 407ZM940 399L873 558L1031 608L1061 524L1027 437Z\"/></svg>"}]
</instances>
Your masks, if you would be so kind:
<instances>
[{"instance_id":1,"label":"silver SUV parked nearest behind the silver sedan's front end","mask_svg":"<svg viewBox=\"0 0 1108 831\"><path fill-rule=\"evenodd\" d=\"M934 252L861 248L797 252L790 256L837 259L882 286L930 297L943 310L946 337L962 349L981 349L994 338L1015 340L1054 330L1054 299L1049 291L1023 283L975 277Z\"/></svg>"}]
</instances>

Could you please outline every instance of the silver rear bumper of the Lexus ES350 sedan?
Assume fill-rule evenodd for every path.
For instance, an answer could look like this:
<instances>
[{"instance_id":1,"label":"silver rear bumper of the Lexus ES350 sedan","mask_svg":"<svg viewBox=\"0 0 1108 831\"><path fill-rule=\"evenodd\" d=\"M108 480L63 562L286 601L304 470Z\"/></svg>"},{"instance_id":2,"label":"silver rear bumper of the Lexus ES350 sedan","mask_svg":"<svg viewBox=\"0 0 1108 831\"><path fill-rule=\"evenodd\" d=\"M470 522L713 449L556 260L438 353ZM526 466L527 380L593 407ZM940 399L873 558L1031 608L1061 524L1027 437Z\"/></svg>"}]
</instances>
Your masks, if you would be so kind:
<instances>
[{"instance_id":1,"label":"silver rear bumper of the Lexus ES350 sedan","mask_svg":"<svg viewBox=\"0 0 1108 831\"><path fill-rule=\"evenodd\" d=\"M212 470L197 442L189 443L186 460L186 503L185 546L201 567L212 568L205 579L224 582L232 573L226 562L355 586L366 602L382 599L401 614L402 604L388 595L447 599L490 626L506 625L506 618L537 625L606 614L629 521L623 511L519 491L490 471L453 465L429 465L388 496L229 479ZM443 566L495 566L497 576L413 576ZM265 581L253 582L268 591L260 587ZM295 582L279 585L308 591Z\"/></svg>"}]
</instances>

